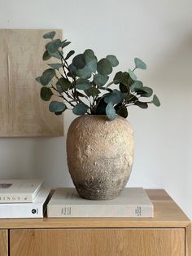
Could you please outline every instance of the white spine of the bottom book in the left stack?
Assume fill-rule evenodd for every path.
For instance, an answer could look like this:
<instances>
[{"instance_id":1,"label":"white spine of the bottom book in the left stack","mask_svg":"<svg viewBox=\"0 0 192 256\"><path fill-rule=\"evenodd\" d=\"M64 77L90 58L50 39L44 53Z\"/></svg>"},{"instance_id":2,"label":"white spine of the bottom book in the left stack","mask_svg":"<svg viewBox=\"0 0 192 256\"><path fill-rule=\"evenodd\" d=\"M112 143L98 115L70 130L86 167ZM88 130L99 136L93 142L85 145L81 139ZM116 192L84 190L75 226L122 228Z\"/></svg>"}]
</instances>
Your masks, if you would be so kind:
<instances>
[{"instance_id":1,"label":"white spine of the bottom book in the left stack","mask_svg":"<svg viewBox=\"0 0 192 256\"><path fill-rule=\"evenodd\" d=\"M43 218L43 205L0 205L0 218Z\"/></svg>"}]
</instances>

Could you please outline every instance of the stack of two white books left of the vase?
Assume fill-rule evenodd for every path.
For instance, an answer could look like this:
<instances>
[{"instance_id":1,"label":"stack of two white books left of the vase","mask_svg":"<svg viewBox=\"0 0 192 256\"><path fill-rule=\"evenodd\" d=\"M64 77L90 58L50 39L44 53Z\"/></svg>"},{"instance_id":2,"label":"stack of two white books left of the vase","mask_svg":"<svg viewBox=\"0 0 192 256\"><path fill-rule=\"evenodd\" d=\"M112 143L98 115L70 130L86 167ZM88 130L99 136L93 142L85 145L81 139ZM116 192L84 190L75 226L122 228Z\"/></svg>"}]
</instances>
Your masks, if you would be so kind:
<instances>
[{"instance_id":1,"label":"stack of two white books left of the vase","mask_svg":"<svg viewBox=\"0 0 192 256\"><path fill-rule=\"evenodd\" d=\"M0 179L0 218L43 218L49 194L40 179Z\"/></svg>"}]
</instances>

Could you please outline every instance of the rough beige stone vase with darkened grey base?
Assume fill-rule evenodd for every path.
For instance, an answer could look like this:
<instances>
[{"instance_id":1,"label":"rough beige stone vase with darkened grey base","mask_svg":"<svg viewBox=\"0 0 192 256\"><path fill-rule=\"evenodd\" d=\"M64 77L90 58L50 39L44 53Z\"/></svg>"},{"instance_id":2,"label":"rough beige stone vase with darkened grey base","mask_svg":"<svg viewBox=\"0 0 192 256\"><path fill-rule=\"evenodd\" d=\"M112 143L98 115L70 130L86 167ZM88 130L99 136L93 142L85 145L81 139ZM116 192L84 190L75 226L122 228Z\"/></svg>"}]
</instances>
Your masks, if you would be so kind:
<instances>
[{"instance_id":1,"label":"rough beige stone vase with darkened grey base","mask_svg":"<svg viewBox=\"0 0 192 256\"><path fill-rule=\"evenodd\" d=\"M72 121L67 137L68 169L80 196L110 200L120 195L133 166L129 121L85 115Z\"/></svg>"}]
</instances>

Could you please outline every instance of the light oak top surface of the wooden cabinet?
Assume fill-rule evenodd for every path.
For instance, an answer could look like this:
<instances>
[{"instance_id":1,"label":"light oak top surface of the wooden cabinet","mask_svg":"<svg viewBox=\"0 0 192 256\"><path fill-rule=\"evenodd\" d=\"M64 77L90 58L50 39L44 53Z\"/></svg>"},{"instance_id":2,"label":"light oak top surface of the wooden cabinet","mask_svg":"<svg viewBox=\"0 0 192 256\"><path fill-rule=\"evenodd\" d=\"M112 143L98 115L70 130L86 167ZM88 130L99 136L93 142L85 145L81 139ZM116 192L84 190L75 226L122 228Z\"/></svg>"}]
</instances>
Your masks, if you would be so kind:
<instances>
[{"instance_id":1,"label":"light oak top surface of the wooden cabinet","mask_svg":"<svg viewBox=\"0 0 192 256\"><path fill-rule=\"evenodd\" d=\"M146 189L154 218L17 218L0 219L0 229L62 227L186 227L190 219L164 189Z\"/></svg>"}]
</instances>

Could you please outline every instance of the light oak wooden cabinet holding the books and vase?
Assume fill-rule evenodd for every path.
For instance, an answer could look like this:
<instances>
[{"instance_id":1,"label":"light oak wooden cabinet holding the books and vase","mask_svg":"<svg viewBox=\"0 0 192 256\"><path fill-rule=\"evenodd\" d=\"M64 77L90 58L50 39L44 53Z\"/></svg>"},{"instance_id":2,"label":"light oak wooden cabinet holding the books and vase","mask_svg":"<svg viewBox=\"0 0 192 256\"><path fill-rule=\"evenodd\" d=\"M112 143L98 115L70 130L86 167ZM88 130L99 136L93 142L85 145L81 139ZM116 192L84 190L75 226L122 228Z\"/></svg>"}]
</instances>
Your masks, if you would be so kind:
<instances>
[{"instance_id":1,"label":"light oak wooden cabinet holding the books and vase","mask_svg":"<svg viewBox=\"0 0 192 256\"><path fill-rule=\"evenodd\" d=\"M164 190L146 192L155 218L0 220L0 256L191 256L189 218Z\"/></svg>"}]
</instances>

